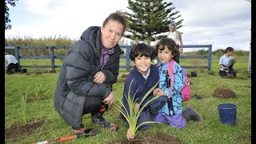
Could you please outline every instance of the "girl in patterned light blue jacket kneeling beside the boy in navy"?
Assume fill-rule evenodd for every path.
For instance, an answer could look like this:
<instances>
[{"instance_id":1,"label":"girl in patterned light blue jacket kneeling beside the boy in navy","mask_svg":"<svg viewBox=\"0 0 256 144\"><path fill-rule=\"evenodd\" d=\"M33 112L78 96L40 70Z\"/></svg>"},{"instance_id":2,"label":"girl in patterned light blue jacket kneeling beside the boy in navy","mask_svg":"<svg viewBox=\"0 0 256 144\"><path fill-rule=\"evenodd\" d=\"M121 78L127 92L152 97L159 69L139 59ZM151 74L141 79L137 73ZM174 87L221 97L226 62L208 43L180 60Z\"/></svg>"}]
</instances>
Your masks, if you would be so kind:
<instances>
[{"instance_id":1,"label":"girl in patterned light blue jacket kneeling beside the boy in navy","mask_svg":"<svg viewBox=\"0 0 256 144\"><path fill-rule=\"evenodd\" d=\"M174 82L170 82L170 75L168 74L168 65L170 61L176 61L178 56L178 49L176 43L171 38L162 38L155 49L158 50L158 68L159 68L159 86L154 89L153 94L157 96L164 96L168 101L158 111L154 118L155 122L166 123L176 128L183 128L190 120L202 122L202 116L190 107L182 110L182 94L181 90L185 86L182 67L178 62L174 62ZM170 85L174 83L173 90L170 91ZM169 96L170 94L170 96Z\"/></svg>"}]
</instances>

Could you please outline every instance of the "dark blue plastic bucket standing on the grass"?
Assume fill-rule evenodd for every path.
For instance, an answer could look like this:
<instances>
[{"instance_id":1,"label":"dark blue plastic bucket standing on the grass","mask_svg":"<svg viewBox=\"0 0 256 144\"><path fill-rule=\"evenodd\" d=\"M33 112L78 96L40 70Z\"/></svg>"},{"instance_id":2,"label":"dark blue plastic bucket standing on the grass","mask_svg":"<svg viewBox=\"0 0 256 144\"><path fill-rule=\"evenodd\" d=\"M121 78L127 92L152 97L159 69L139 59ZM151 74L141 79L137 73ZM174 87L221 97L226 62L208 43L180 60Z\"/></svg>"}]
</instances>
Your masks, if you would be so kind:
<instances>
[{"instance_id":1,"label":"dark blue plastic bucket standing on the grass","mask_svg":"<svg viewBox=\"0 0 256 144\"><path fill-rule=\"evenodd\" d=\"M237 106L232 103L219 104L218 114L222 124L234 126L237 119Z\"/></svg>"}]
</instances>

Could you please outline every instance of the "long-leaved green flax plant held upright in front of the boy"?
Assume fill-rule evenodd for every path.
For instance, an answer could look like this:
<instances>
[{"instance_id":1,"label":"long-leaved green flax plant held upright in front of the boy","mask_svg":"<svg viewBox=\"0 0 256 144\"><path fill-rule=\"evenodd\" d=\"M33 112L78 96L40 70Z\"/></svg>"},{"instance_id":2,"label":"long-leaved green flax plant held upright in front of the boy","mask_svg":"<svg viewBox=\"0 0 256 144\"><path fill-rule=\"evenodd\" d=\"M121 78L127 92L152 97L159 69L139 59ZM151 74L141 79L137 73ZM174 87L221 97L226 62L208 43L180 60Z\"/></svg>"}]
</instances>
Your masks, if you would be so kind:
<instances>
[{"instance_id":1,"label":"long-leaved green flax plant held upright in front of the boy","mask_svg":"<svg viewBox=\"0 0 256 144\"><path fill-rule=\"evenodd\" d=\"M132 83L134 82L134 79L130 82L130 86L132 85ZM142 105L142 102L145 100L145 98L154 90L154 88L156 86L158 86L158 83L157 82L156 84L154 84L154 86L144 95L144 97L142 98L142 101L139 103L139 106ZM126 118L126 121L129 123L129 126L130 126L130 131L132 134L136 134L138 128L142 125L145 125L147 123L158 123L158 122L142 122L141 124L139 124L137 126L137 122L138 122L138 118L139 116L141 115L142 113L142 110L145 108L146 105L148 105L150 102L152 102L154 99L158 98L158 97L154 97L154 98L151 98L150 101L146 102L146 104L144 106L142 106L139 110L138 110L138 113L135 113L134 111L134 105L135 105L135 102L138 100L136 99L134 101L134 98L130 98L130 86L129 86L129 91L128 91L128 97L125 95L126 99L127 99L127 102L128 102L128 106L129 106L129 111L130 111L130 114L128 113L128 110L126 110L126 107L124 106L124 104L122 103L122 101L118 98L118 101L122 104L122 106L117 106L118 108L118 111L121 112L121 114L124 116L124 118ZM136 91L137 93L137 91ZM135 94L136 94L135 93Z\"/></svg>"}]
</instances>

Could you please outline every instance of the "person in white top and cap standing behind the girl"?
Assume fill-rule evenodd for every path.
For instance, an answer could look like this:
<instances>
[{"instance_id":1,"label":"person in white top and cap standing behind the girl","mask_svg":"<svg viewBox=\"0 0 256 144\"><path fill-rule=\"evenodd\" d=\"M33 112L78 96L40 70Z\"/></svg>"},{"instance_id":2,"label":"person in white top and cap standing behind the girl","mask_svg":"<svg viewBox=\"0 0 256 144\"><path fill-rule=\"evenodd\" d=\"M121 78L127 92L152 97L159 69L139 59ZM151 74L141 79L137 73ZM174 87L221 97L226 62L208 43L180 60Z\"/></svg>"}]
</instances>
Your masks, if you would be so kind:
<instances>
[{"instance_id":1,"label":"person in white top and cap standing behind the girl","mask_svg":"<svg viewBox=\"0 0 256 144\"><path fill-rule=\"evenodd\" d=\"M169 25L170 32L167 33L167 38L171 38L176 43L176 47L179 50L176 62L179 63L179 54L183 53L182 33L177 30L176 24L171 22Z\"/></svg>"}]
</instances>

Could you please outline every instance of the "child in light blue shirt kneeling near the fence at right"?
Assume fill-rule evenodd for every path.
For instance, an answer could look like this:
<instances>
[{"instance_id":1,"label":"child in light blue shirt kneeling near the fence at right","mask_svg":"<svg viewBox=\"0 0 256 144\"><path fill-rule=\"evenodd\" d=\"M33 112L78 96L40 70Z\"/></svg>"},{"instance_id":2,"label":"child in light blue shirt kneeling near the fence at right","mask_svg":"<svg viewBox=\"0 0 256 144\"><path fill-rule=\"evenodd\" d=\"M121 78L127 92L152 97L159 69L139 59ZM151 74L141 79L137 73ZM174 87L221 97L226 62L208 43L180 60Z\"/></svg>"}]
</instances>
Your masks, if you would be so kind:
<instances>
[{"instance_id":1,"label":"child in light blue shirt kneeling near the fence at right","mask_svg":"<svg viewBox=\"0 0 256 144\"><path fill-rule=\"evenodd\" d=\"M225 50L225 54L222 55L221 58L219 58L219 66L221 67L219 70L220 76L227 76L227 74L234 74L234 63L235 59L232 56L234 53L234 49L232 47L227 47Z\"/></svg>"}]
</instances>

